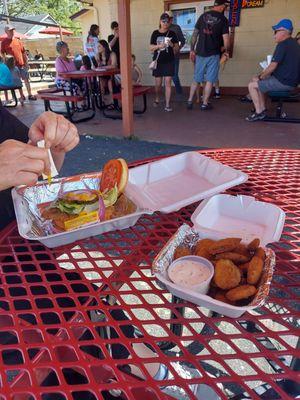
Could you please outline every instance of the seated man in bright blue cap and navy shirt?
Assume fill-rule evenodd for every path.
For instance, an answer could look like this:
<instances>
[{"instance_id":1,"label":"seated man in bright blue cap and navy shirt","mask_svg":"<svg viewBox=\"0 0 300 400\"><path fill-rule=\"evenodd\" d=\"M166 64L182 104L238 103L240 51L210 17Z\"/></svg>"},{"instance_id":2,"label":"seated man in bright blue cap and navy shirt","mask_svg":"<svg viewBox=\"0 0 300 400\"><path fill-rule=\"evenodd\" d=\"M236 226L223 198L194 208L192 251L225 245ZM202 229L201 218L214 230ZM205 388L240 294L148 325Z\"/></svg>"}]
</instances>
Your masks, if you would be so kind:
<instances>
[{"instance_id":1,"label":"seated man in bright blue cap and navy shirt","mask_svg":"<svg viewBox=\"0 0 300 400\"><path fill-rule=\"evenodd\" d=\"M287 92L295 89L300 82L300 46L292 38L293 23L282 19L272 26L277 43L271 64L249 83L249 93L255 112L246 120L261 121L266 117L265 94L271 91Z\"/></svg>"}]
</instances>

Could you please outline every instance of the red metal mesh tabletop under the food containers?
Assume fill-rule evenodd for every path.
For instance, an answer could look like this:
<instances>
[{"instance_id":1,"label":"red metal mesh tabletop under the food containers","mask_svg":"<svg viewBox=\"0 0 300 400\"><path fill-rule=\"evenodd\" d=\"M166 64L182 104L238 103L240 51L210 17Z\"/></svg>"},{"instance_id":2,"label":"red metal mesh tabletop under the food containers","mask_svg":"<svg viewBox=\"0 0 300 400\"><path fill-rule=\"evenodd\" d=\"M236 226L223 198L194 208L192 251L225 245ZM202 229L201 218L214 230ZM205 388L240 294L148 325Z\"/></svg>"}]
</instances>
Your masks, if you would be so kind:
<instances>
[{"instance_id":1,"label":"red metal mesh tabletop under the food containers","mask_svg":"<svg viewBox=\"0 0 300 400\"><path fill-rule=\"evenodd\" d=\"M151 275L197 204L55 250L12 224L0 234L0 400L195 399L196 389L209 399L205 385L221 399L299 395L300 152L202 154L249 174L229 193L286 212L264 306L211 315L172 301Z\"/></svg>"}]
</instances>

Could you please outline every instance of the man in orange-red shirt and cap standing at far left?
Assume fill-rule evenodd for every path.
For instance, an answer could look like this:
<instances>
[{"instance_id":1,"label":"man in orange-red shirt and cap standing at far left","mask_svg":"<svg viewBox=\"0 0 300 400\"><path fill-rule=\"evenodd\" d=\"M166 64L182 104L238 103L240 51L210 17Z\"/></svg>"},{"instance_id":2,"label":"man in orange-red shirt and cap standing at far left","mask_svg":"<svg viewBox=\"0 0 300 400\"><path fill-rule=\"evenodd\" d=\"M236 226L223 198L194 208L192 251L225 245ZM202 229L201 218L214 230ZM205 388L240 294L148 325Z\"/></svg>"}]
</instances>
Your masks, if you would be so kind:
<instances>
[{"instance_id":1,"label":"man in orange-red shirt and cap standing at far left","mask_svg":"<svg viewBox=\"0 0 300 400\"><path fill-rule=\"evenodd\" d=\"M36 96L31 93L31 87L29 83L29 72L28 72L28 59L25 48L21 43L20 39L14 37L15 27L12 25L5 26L5 33L7 38L2 41L1 53L4 56L10 55L15 59L16 66L20 70L21 78L25 82L25 86L28 92L28 100L36 100Z\"/></svg>"}]
</instances>

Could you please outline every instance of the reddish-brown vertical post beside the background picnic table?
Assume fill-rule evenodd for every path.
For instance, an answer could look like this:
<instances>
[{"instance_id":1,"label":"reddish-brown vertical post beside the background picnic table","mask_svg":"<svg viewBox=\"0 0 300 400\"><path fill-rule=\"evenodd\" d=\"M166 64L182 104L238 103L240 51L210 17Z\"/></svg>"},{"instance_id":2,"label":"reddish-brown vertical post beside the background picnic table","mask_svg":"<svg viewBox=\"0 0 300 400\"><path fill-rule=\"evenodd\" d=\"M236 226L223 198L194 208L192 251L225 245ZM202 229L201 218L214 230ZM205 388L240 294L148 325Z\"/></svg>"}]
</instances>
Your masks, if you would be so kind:
<instances>
[{"instance_id":1,"label":"reddish-brown vertical post beside the background picnic table","mask_svg":"<svg viewBox=\"0 0 300 400\"><path fill-rule=\"evenodd\" d=\"M133 135L130 0L118 1L123 135Z\"/></svg>"}]
</instances>

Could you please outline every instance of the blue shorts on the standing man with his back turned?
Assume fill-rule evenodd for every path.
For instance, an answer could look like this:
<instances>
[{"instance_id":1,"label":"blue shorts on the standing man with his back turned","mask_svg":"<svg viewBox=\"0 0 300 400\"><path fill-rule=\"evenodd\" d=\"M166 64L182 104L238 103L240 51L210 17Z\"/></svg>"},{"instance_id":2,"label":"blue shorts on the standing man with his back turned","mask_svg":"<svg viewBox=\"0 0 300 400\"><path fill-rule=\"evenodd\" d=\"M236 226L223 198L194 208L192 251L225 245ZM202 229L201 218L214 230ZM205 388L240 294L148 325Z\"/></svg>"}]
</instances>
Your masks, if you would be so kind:
<instances>
[{"instance_id":1,"label":"blue shorts on the standing man with his back turned","mask_svg":"<svg viewBox=\"0 0 300 400\"><path fill-rule=\"evenodd\" d=\"M211 82L218 80L220 69L220 55L209 57L196 56L194 80L197 83Z\"/></svg>"}]
</instances>

